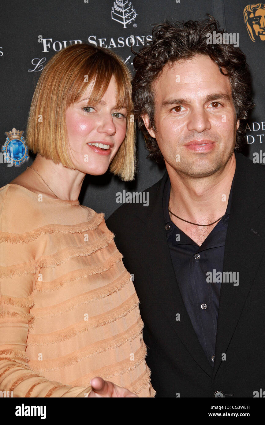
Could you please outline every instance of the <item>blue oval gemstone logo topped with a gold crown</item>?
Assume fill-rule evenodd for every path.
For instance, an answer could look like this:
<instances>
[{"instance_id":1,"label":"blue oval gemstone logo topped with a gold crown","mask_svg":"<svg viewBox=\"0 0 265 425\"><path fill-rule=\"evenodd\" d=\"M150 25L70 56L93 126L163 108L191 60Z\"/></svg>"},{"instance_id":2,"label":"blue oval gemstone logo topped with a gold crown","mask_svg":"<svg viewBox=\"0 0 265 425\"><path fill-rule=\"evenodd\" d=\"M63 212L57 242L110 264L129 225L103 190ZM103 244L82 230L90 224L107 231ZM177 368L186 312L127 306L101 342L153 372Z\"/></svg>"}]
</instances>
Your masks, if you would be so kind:
<instances>
[{"instance_id":1,"label":"blue oval gemstone logo topped with a gold crown","mask_svg":"<svg viewBox=\"0 0 265 425\"><path fill-rule=\"evenodd\" d=\"M5 155L5 162L14 164L15 167L20 167L23 162L28 161L28 147L22 134L24 131L19 131L13 128L6 132L6 143L2 146L2 151Z\"/></svg>"}]
</instances>

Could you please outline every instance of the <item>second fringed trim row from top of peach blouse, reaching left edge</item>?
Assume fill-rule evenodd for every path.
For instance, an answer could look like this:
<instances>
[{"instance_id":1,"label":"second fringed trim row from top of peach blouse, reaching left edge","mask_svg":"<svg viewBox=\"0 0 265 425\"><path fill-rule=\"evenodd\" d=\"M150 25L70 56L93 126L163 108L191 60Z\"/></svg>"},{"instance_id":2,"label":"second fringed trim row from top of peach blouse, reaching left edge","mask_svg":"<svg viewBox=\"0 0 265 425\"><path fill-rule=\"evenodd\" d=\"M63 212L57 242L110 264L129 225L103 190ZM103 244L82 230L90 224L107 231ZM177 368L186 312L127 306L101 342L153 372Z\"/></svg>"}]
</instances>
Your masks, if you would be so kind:
<instances>
[{"instance_id":1,"label":"second fringed trim row from top of peach blouse, reaching left edge","mask_svg":"<svg viewBox=\"0 0 265 425\"><path fill-rule=\"evenodd\" d=\"M113 242L113 238L113 233L110 230L106 230L103 236L99 238L95 244L66 248L54 255L48 255L36 261L28 261L26 263L15 264L13 266L1 266L0 278L11 278L13 275L34 275L37 270L42 268L46 269L48 267L60 266L74 257L86 257L97 251L105 249L109 244L111 244L111 242Z\"/></svg>"}]
</instances>

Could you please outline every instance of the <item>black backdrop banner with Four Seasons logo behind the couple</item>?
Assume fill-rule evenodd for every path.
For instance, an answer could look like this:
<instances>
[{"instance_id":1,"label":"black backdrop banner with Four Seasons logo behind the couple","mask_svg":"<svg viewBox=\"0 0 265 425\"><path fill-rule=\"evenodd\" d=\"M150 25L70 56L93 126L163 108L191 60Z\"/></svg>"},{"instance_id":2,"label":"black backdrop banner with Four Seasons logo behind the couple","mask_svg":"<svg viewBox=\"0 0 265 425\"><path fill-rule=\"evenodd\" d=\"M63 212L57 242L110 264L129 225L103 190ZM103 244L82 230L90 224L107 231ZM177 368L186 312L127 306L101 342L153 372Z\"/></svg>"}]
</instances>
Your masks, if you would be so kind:
<instances>
[{"instance_id":1,"label":"black backdrop banner with Four Seasons logo behind the couple","mask_svg":"<svg viewBox=\"0 0 265 425\"><path fill-rule=\"evenodd\" d=\"M26 122L37 80L46 62L68 45L104 46L122 57L133 73L131 45L137 51L165 20L201 20L213 15L234 34L253 78L255 108L246 123L242 151L265 164L265 3L248 0L12 0L1 6L0 187L28 167L34 156L26 146ZM23 137L24 136L24 137ZM13 163L8 160L13 150ZM138 171L125 183L111 173L86 176L80 202L105 218L116 210L117 193L139 192L158 181L165 168L147 159L137 135Z\"/></svg>"}]
</instances>

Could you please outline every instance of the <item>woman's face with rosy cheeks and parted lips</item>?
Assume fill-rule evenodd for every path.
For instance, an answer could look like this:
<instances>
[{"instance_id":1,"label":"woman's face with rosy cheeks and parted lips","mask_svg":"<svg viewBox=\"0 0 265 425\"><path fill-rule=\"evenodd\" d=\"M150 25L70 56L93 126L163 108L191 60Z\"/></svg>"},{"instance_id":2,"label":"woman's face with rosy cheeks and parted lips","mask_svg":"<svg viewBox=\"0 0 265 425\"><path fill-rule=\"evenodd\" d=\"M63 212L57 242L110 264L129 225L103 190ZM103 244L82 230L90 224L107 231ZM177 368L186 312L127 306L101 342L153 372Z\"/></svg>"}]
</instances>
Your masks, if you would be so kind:
<instances>
[{"instance_id":1,"label":"woman's face with rosy cheeks and parted lips","mask_svg":"<svg viewBox=\"0 0 265 425\"><path fill-rule=\"evenodd\" d=\"M127 109L126 105L116 108L117 88L113 76L96 105L89 102L92 88L89 84L80 100L66 109L66 128L75 168L97 176L108 170L125 139Z\"/></svg>"}]
</instances>

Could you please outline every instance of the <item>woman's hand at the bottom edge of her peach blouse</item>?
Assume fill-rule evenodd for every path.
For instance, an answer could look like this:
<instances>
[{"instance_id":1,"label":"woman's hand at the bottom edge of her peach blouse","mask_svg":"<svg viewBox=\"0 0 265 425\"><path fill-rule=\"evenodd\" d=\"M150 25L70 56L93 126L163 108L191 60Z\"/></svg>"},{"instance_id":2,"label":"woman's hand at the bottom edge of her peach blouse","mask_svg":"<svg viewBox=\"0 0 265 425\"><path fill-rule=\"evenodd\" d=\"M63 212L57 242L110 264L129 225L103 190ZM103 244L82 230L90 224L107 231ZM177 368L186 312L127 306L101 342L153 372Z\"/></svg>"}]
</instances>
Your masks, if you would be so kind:
<instances>
[{"instance_id":1,"label":"woman's hand at the bottom edge of her peach blouse","mask_svg":"<svg viewBox=\"0 0 265 425\"><path fill-rule=\"evenodd\" d=\"M110 381L104 381L103 378L96 377L91 379L92 390L88 397L137 397L136 394L126 388L119 387Z\"/></svg>"}]
</instances>

